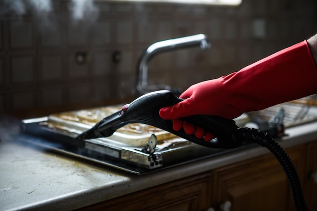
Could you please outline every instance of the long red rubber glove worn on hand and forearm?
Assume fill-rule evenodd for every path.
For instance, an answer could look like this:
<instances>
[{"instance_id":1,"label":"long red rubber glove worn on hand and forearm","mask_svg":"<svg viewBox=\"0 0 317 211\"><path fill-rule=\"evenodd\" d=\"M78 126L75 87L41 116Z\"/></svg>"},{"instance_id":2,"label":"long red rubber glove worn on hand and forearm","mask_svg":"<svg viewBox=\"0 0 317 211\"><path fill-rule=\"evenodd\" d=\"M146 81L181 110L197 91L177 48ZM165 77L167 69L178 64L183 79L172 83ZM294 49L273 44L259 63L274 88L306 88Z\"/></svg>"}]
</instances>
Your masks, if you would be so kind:
<instances>
[{"instance_id":1,"label":"long red rubber glove worn on hand and forearm","mask_svg":"<svg viewBox=\"0 0 317 211\"><path fill-rule=\"evenodd\" d=\"M213 136L181 117L204 114L228 119L317 93L317 69L307 41L279 51L238 72L196 83L180 98L185 100L160 110L173 120L174 130L210 141Z\"/></svg>"}]
</instances>

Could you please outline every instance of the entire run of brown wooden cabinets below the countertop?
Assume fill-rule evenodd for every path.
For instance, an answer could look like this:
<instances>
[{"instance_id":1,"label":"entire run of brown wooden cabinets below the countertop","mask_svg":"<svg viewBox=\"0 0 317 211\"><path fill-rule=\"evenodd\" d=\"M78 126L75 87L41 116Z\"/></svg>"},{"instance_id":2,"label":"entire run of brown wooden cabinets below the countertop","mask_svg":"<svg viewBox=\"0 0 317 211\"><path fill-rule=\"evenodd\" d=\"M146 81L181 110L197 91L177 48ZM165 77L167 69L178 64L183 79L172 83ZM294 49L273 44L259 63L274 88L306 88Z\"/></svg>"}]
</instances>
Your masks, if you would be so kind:
<instances>
[{"instance_id":1,"label":"entire run of brown wooden cabinets below the countertop","mask_svg":"<svg viewBox=\"0 0 317 211\"><path fill-rule=\"evenodd\" d=\"M317 142L286 152L301 179L308 210L317 210ZM226 211L295 210L283 168L270 153L80 210L203 211L210 207Z\"/></svg>"}]
</instances>

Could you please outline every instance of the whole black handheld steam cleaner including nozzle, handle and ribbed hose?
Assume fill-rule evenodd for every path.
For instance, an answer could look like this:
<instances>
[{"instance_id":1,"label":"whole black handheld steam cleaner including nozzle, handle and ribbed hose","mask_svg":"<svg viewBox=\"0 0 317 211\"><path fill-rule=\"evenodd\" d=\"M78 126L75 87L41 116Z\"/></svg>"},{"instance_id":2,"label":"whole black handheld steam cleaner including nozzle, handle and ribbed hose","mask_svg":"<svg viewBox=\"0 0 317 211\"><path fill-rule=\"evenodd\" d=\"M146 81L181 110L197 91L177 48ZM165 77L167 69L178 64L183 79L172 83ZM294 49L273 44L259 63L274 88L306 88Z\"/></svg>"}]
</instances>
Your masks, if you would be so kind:
<instances>
[{"instance_id":1,"label":"whole black handheld steam cleaner including nozzle, handle and ribbed hose","mask_svg":"<svg viewBox=\"0 0 317 211\"><path fill-rule=\"evenodd\" d=\"M213 134L216 138L209 142L196 138L194 134L188 135L183 129L174 131L172 120L161 118L159 111L163 107L174 105L183 100L166 90L145 94L130 104L124 105L121 110L106 116L93 128L78 135L76 138L83 140L108 137L117 129L129 123L143 123L168 131L193 143L211 148L228 149L239 147L244 142L257 143L267 148L282 165L291 188L296 210L307 210L296 168L288 154L274 139L256 129L239 128L232 119L208 115L193 115L182 119L200 126L206 132Z\"/></svg>"}]
</instances>

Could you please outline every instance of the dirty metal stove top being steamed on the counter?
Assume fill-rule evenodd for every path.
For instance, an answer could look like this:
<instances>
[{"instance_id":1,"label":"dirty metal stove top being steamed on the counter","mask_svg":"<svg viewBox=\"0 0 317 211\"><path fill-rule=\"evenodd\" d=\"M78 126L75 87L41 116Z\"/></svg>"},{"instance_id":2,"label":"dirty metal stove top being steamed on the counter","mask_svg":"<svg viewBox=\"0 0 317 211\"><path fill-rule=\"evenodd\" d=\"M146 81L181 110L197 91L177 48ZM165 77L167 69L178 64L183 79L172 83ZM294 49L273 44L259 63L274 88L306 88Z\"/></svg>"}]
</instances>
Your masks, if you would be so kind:
<instances>
[{"instance_id":1,"label":"dirty metal stove top being steamed on the counter","mask_svg":"<svg viewBox=\"0 0 317 211\"><path fill-rule=\"evenodd\" d=\"M107 138L75 139L121 107L98 107L24 119L20 140L134 174L145 174L236 150L203 147L140 123L128 124Z\"/></svg>"}]
</instances>

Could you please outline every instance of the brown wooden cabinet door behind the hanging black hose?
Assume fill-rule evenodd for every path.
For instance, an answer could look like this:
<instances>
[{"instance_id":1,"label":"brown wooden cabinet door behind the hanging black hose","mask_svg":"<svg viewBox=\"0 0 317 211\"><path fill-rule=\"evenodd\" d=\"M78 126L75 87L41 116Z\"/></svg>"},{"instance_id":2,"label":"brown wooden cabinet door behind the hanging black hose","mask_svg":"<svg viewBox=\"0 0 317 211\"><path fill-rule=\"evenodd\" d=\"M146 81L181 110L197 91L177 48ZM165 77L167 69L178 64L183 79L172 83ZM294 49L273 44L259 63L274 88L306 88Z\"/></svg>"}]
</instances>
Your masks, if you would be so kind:
<instances>
[{"instance_id":1,"label":"brown wooden cabinet door behind the hanging black hose","mask_svg":"<svg viewBox=\"0 0 317 211\"><path fill-rule=\"evenodd\" d=\"M304 147L286 150L302 178ZM215 206L231 202L231 211L295 210L288 181L272 154L219 168L214 176Z\"/></svg>"}]
</instances>

